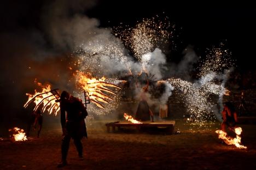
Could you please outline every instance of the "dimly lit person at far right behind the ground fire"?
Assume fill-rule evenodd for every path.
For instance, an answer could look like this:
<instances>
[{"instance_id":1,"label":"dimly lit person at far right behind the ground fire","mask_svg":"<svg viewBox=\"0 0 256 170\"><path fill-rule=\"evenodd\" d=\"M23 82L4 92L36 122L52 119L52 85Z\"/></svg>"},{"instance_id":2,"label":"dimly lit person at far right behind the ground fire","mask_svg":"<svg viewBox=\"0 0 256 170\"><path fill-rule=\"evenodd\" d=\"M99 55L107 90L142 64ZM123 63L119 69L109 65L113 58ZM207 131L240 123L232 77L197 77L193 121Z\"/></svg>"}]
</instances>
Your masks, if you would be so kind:
<instances>
[{"instance_id":1,"label":"dimly lit person at far right behind the ground fire","mask_svg":"<svg viewBox=\"0 0 256 170\"><path fill-rule=\"evenodd\" d=\"M234 129L237 124L237 113L231 102L225 102L222 111L223 122L221 124L222 131L226 132L226 127L230 130Z\"/></svg>"}]
</instances>

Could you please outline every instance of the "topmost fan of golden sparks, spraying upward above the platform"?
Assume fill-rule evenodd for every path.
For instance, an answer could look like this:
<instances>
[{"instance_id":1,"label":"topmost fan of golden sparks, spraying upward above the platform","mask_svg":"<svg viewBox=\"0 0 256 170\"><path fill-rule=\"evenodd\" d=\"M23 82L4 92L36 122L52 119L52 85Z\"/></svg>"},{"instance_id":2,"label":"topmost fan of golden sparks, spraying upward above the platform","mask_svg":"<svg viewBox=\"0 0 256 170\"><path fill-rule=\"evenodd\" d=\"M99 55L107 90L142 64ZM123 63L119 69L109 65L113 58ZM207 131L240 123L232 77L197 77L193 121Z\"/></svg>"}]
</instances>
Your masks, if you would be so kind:
<instances>
[{"instance_id":1,"label":"topmost fan of golden sparks, spraying upward above the platform","mask_svg":"<svg viewBox=\"0 0 256 170\"><path fill-rule=\"evenodd\" d=\"M152 52L156 47L168 42L172 35L172 32L168 31L170 28L171 24L167 21L167 17L164 21L160 21L156 16L152 19L143 19L134 28L129 26L114 28L113 33L131 49L138 61L142 62L143 54Z\"/></svg>"}]
</instances>

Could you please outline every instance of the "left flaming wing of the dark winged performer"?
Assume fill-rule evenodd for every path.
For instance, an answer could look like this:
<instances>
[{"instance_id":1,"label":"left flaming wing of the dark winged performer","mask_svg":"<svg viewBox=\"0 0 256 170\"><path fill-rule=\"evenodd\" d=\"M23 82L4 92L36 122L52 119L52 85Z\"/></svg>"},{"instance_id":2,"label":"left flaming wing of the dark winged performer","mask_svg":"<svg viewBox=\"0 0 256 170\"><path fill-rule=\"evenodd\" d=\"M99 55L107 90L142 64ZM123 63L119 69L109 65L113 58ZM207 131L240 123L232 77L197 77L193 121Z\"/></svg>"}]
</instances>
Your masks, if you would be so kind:
<instances>
[{"instance_id":1,"label":"left flaming wing of the dark winged performer","mask_svg":"<svg viewBox=\"0 0 256 170\"><path fill-rule=\"evenodd\" d=\"M36 98L34 98L34 103L36 104L36 107L34 107L33 111L36 111L40 105L43 105L42 113L44 113L46 108L48 108L47 111L49 112L49 114L54 113L54 115L56 116L57 112L60 111L60 103L55 102L56 98L50 92L51 91L50 84L46 84L46 86L42 86L41 83L37 83L37 84L38 84L38 86L42 87L42 92L37 92L37 90L34 90L34 94L26 93L26 95L28 96L28 100L24 104L24 107L26 108L28 106L28 104L31 102L31 100L34 98L34 96L36 96ZM42 93L44 93L44 94L42 94ZM42 95L40 95L40 94L42 94Z\"/></svg>"}]
</instances>

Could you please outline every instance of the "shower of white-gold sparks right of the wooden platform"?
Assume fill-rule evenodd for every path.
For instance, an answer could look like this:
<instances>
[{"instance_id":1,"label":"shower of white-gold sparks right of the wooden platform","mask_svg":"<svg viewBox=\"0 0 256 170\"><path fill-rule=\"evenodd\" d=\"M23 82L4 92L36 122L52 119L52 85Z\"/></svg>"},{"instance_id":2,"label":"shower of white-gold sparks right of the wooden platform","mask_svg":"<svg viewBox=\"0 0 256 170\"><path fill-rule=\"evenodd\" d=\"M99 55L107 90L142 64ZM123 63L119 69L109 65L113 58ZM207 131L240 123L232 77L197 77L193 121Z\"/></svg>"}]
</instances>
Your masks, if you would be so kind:
<instances>
[{"instance_id":1,"label":"shower of white-gold sparks right of the wooden platform","mask_svg":"<svg viewBox=\"0 0 256 170\"><path fill-rule=\"evenodd\" d=\"M194 83L181 80L180 78L168 78L174 89L185 100L187 112L194 123L204 124L207 120L213 120L214 114L211 108L214 106L212 94L222 97L229 95L220 75L225 69L230 69L234 65L234 60L230 58L230 52L223 48L213 48L207 54L205 62L199 66L199 80ZM219 83L218 83L219 82Z\"/></svg>"}]
</instances>

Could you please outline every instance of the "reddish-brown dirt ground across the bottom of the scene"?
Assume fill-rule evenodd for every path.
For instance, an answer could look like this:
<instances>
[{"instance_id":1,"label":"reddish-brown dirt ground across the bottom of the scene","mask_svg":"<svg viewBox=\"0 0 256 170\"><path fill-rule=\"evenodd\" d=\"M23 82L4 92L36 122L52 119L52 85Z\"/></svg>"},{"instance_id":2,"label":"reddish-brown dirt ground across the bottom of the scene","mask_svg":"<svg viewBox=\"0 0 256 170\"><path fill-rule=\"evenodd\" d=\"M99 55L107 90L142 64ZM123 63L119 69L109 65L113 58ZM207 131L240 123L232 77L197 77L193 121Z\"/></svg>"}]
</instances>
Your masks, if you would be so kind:
<instances>
[{"instance_id":1,"label":"reddish-brown dirt ground across the bottom of the scene","mask_svg":"<svg viewBox=\"0 0 256 170\"><path fill-rule=\"evenodd\" d=\"M255 169L256 125L240 125L242 144L223 144L214 133L219 123L196 127L176 120L175 131L161 129L136 133L133 129L106 132L106 122L87 123L84 160L78 159L73 141L68 165L62 169ZM36 136L35 132L32 136ZM44 126L40 138L26 142L0 141L0 169L60 169L60 125Z\"/></svg>"}]
</instances>

